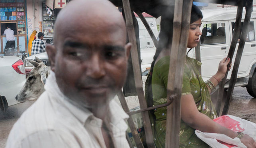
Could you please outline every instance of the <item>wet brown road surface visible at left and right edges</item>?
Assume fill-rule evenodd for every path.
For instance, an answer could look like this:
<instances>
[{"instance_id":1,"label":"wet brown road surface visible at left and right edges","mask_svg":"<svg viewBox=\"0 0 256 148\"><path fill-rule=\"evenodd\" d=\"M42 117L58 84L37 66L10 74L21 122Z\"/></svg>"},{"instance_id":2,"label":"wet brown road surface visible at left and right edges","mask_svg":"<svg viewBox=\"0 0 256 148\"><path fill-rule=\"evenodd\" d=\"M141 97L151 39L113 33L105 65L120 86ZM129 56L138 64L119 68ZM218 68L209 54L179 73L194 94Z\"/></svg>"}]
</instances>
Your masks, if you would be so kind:
<instances>
[{"instance_id":1,"label":"wet brown road surface visible at left and right edges","mask_svg":"<svg viewBox=\"0 0 256 148\"><path fill-rule=\"evenodd\" d=\"M0 112L0 148L5 147L12 126L33 102L27 101L13 105L8 108L7 112ZM256 99L247 93L246 88L236 87L228 114L248 118L256 123Z\"/></svg>"}]
</instances>

